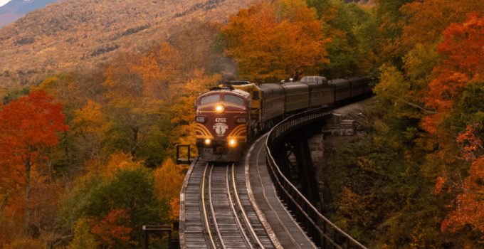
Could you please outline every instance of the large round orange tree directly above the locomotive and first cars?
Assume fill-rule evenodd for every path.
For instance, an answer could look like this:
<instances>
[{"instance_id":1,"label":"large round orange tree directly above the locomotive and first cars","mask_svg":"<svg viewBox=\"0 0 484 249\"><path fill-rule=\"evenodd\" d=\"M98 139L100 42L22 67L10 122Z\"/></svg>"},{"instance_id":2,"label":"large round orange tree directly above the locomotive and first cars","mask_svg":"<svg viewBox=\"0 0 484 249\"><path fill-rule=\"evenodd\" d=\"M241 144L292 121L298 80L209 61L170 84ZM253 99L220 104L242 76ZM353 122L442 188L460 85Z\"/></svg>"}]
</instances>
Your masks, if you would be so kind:
<instances>
[{"instance_id":1,"label":"large round orange tree directly above the locomotive and first cars","mask_svg":"<svg viewBox=\"0 0 484 249\"><path fill-rule=\"evenodd\" d=\"M322 25L305 1L261 2L243 9L221 28L226 54L239 76L270 81L316 73L328 63Z\"/></svg>"}]
</instances>

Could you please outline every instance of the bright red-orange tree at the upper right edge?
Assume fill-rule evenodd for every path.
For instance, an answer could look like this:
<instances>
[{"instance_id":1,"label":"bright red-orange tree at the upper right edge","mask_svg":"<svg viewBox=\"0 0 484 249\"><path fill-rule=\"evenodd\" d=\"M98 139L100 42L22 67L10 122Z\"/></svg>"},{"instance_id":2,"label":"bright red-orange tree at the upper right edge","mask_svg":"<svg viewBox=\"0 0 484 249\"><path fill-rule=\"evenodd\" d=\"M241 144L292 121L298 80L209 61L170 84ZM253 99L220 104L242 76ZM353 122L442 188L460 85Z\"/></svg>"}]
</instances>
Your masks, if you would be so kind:
<instances>
[{"instance_id":1,"label":"bright red-orange tree at the upper right edge","mask_svg":"<svg viewBox=\"0 0 484 249\"><path fill-rule=\"evenodd\" d=\"M442 34L438 52L444 59L433 69L436 77L429 83L424 100L427 107L438 112L423 118L423 127L433 134L453 110L463 89L484 80L484 16L471 13L463 23L452 23Z\"/></svg>"}]
</instances>

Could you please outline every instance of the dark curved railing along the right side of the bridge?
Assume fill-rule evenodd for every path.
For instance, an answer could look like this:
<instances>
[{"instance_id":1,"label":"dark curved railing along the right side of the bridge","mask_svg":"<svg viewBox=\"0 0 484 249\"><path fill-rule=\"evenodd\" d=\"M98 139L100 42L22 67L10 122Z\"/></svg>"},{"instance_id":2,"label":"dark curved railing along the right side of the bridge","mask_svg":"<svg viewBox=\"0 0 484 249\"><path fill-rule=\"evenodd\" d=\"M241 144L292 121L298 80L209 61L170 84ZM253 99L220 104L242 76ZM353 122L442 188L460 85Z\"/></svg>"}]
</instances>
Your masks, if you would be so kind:
<instances>
[{"instance_id":1,"label":"dark curved railing along the right side of the bridge","mask_svg":"<svg viewBox=\"0 0 484 249\"><path fill-rule=\"evenodd\" d=\"M277 147L283 137L305 124L329 117L331 109L322 107L290 116L270 130L265 141L266 162L279 197L295 214L296 220L305 228L312 240L322 248L364 248L364 245L344 233L323 216L315 206L284 176L276 163L271 148Z\"/></svg>"}]
</instances>

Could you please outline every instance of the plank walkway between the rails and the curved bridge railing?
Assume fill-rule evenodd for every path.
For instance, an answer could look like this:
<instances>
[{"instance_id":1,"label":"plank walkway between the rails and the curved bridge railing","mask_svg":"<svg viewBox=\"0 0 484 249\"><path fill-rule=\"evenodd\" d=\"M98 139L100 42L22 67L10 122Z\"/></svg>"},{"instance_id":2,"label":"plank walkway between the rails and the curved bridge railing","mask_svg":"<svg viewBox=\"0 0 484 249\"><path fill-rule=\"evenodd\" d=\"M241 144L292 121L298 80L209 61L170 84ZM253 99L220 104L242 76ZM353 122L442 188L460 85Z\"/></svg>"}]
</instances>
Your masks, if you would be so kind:
<instances>
[{"instance_id":1,"label":"plank walkway between the rails and the curved bridge railing","mask_svg":"<svg viewBox=\"0 0 484 249\"><path fill-rule=\"evenodd\" d=\"M255 208L263 213L263 217L260 218L272 230L268 233L275 235L283 248L316 248L275 192L265 165L265 138L264 135L253 144L244 160L246 179L251 181Z\"/></svg>"}]
</instances>

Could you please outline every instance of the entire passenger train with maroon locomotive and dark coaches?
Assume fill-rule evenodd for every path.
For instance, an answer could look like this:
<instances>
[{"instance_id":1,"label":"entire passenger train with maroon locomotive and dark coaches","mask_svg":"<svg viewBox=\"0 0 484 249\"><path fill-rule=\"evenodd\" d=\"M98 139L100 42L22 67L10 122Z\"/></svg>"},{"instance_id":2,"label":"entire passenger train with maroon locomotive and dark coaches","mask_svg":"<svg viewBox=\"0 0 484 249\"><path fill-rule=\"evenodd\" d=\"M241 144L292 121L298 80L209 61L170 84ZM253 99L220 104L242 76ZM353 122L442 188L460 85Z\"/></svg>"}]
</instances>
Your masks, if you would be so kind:
<instances>
[{"instance_id":1,"label":"entire passenger train with maroon locomotive and dark coaches","mask_svg":"<svg viewBox=\"0 0 484 249\"><path fill-rule=\"evenodd\" d=\"M239 161L246 145L284 117L336 105L372 92L367 77L327 80L305 76L297 82L231 80L196 99L196 147L205 161Z\"/></svg>"}]
</instances>

